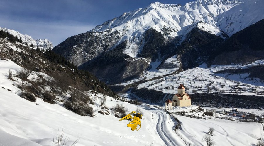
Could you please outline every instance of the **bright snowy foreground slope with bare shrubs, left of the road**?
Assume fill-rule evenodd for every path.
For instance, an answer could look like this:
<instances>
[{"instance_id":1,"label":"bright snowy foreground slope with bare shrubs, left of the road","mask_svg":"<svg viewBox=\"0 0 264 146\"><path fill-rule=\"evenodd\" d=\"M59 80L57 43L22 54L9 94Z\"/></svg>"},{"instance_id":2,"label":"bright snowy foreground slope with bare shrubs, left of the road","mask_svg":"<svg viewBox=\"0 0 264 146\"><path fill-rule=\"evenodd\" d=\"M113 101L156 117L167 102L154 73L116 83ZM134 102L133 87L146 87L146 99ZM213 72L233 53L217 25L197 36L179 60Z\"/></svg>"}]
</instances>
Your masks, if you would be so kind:
<instances>
[{"instance_id":1,"label":"bright snowy foreground slope with bare shrubs, left of the road","mask_svg":"<svg viewBox=\"0 0 264 146\"><path fill-rule=\"evenodd\" d=\"M78 138L80 140L76 146L114 146L124 145L124 143L126 145L135 143L137 145L165 145L168 139L175 140L173 145L185 145L172 131L175 121L150 105L131 105L128 102L121 102L106 96L106 105L109 108L119 103L126 106L130 112L137 108L141 108L144 112L140 130L131 131L126 127L129 121L118 121L120 118L114 115L102 115L97 112L101 110L99 106L100 98L103 97L101 94L94 94L91 97L95 99L94 118L80 116L60 104L49 104L40 98L37 98L36 103L29 102L18 96L21 90L14 86L20 79L13 77L16 81L11 81L6 77L9 69L16 72L20 68L10 60L0 60L0 133L2 134L0 145L54 145L53 133L56 136L58 128L60 133L62 127L65 136L70 138L67 145L72 145ZM29 76L29 79L33 78L37 78L37 75ZM156 114L153 114L153 111ZM163 115L162 121L158 119L158 115ZM166 124L163 121L166 121ZM166 136L162 135L164 130L167 131Z\"/></svg>"}]
</instances>

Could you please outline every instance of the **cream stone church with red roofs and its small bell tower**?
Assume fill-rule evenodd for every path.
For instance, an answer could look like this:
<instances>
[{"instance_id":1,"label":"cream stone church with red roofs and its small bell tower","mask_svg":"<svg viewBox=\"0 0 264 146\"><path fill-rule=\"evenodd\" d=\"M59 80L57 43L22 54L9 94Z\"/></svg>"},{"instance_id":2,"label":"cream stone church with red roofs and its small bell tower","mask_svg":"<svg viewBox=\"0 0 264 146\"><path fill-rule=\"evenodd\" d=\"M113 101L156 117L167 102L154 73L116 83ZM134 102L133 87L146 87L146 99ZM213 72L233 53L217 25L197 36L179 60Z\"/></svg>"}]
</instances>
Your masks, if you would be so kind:
<instances>
[{"instance_id":1,"label":"cream stone church with red roofs and its small bell tower","mask_svg":"<svg viewBox=\"0 0 264 146\"><path fill-rule=\"evenodd\" d=\"M178 87L178 94L175 94L172 98L172 101L170 99L167 99L165 101L165 107L166 109L172 109L172 106L190 106L191 105L191 98L189 94L185 93L185 88L182 84Z\"/></svg>"}]
</instances>

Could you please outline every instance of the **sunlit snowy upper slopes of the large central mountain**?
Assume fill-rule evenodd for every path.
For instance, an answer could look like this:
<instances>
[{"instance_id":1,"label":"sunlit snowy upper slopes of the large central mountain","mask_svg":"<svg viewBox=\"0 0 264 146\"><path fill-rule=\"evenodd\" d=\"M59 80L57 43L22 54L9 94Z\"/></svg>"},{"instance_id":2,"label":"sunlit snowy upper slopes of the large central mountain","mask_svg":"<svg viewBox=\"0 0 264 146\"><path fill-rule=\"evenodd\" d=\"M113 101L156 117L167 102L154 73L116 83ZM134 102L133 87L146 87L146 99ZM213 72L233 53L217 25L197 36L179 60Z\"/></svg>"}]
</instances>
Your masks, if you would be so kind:
<instances>
[{"instance_id":1,"label":"sunlit snowy upper slopes of the large central mountain","mask_svg":"<svg viewBox=\"0 0 264 146\"><path fill-rule=\"evenodd\" d=\"M175 36L185 36L196 26L211 34L222 36L224 32L231 36L263 19L262 6L261 0L197 0L183 6L155 2L108 20L90 32L104 33L109 29L121 32L121 39L117 43L128 40L124 53L136 57L143 34L149 28L167 35L165 38L168 40ZM166 34L163 28L170 33Z\"/></svg>"}]
</instances>

